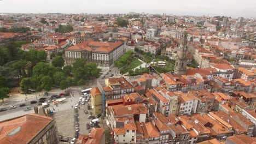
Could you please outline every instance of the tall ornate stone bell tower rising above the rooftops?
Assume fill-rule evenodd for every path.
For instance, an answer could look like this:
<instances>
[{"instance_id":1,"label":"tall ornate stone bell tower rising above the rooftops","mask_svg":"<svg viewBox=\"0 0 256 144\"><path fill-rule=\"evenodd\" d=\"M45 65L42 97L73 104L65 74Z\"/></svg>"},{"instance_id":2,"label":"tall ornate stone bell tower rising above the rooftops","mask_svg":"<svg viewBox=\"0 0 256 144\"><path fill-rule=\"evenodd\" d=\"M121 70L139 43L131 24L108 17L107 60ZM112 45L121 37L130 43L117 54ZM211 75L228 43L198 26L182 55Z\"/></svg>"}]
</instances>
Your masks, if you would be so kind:
<instances>
[{"instance_id":1,"label":"tall ornate stone bell tower rising above the rooftops","mask_svg":"<svg viewBox=\"0 0 256 144\"><path fill-rule=\"evenodd\" d=\"M178 48L175 70L174 74L185 75L187 70L187 60L188 60L188 47L187 47L187 37L188 33L183 32L181 43Z\"/></svg>"}]
</instances>

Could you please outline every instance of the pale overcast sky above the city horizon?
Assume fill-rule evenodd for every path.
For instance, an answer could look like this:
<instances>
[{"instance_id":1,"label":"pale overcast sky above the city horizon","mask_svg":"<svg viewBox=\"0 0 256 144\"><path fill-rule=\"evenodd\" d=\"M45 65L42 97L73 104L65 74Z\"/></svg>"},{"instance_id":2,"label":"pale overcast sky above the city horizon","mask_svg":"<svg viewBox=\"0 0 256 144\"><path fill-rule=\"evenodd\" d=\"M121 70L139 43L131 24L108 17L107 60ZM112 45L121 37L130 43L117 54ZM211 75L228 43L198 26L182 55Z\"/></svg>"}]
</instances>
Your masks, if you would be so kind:
<instances>
[{"instance_id":1,"label":"pale overcast sky above the city horizon","mask_svg":"<svg viewBox=\"0 0 256 144\"><path fill-rule=\"evenodd\" d=\"M0 13L166 13L256 17L256 0L2 0Z\"/></svg>"}]
</instances>

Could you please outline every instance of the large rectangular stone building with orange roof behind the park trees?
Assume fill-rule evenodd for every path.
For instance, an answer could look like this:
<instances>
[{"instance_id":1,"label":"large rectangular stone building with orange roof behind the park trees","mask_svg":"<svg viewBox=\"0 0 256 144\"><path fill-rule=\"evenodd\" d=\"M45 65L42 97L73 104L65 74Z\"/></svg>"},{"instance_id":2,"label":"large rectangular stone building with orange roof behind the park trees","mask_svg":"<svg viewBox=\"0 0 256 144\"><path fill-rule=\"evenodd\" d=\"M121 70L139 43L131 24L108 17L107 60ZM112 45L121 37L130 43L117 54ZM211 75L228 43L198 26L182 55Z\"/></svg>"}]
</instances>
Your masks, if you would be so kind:
<instances>
[{"instance_id":1,"label":"large rectangular stone building with orange roof behind the park trees","mask_svg":"<svg viewBox=\"0 0 256 144\"><path fill-rule=\"evenodd\" d=\"M107 43L90 39L66 49L65 62L72 64L77 58L85 58L89 62L97 63L99 67L110 67L124 52L123 41Z\"/></svg>"}]
</instances>

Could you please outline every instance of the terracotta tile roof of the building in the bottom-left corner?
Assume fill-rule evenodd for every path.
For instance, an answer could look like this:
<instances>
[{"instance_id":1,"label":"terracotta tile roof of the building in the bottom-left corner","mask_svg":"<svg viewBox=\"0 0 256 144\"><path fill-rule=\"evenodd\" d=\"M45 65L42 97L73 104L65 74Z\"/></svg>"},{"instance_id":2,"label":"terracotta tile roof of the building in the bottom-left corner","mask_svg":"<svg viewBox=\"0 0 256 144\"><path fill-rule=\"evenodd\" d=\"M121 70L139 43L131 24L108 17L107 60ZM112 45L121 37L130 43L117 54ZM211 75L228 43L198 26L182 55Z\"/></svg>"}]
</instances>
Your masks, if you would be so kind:
<instances>
[{"instance_id":1,"label":"terracotta tile roof of the building in the bottom-left corner","mask_svg":"<svg viewBox=\"0 0 256 144\"><path fill-rule=\"evenodd\" d=\"M0 123L0 143L29 143L51 121L53 119L50 117L34 113L3 121ZM16 134L9 136L11 132L19 129L19 127L20 130Z\"/></svg>"}]
</instances>

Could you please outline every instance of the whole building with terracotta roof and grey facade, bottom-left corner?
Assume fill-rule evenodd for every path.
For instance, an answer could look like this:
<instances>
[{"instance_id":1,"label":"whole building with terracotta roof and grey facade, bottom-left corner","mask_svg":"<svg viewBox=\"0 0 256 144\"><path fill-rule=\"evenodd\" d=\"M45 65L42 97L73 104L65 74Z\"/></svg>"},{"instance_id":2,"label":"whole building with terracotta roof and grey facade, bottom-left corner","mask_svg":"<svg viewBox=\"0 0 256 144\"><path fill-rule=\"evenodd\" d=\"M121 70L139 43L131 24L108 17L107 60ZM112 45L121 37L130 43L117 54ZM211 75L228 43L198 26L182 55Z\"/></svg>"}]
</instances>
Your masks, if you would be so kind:
<instances>
[{"instance_id":1,"label":"whole building with terracotta roof and grey facade, bottom-left corner","mask_svg":"<svg viewBox=\"0 0 256 144\"><path fill-rule=\"evenodd\" d=\"M0 129L0 143L59 143L55 121L51 117L31 113L0 122Z\"/></svg>"}]
</instances>

